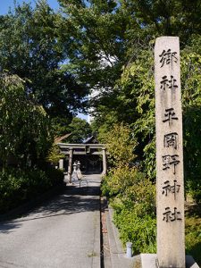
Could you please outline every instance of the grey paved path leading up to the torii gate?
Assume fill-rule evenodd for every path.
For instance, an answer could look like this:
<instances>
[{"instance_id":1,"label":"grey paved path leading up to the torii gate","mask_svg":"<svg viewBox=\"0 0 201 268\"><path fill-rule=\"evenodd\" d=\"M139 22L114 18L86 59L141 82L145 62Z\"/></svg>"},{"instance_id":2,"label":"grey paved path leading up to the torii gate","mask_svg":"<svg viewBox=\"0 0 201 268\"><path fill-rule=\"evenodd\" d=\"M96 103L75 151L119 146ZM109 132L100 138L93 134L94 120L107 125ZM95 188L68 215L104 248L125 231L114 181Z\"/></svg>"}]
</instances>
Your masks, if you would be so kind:
<instances>
[{"instance_id":1,"label":"grey paved path leading up to the torii gate","mask_svg":"<svg viewBox=\"0 0 201 268\"><path fill-rule=\"evenodd\" d=\"M100 267L100 176L0 223L0 267Z\"/></svg>"}]
</instances>

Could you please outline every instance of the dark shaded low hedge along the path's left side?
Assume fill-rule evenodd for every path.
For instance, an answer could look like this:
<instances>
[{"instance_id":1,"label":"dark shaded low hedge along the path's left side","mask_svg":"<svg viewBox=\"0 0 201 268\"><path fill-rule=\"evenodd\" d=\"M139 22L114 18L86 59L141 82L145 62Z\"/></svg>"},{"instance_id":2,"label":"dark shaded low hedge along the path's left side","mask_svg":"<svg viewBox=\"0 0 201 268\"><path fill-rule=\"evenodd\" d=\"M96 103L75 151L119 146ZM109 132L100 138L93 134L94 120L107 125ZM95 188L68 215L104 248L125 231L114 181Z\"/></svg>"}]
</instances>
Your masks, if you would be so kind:
<instances>
[{"instance_id":1,"label":"dark shaded low hedge along the path's left side","mask_svg":"<svg viewBox=\"0 0 201 268\"><path fill-rule=\"evenodd\" d=\"M37 168L6 169L0 172L0 213L5 213L62 182L63 173L51 168L46 171Z\"/></svg>"}]
</instances>

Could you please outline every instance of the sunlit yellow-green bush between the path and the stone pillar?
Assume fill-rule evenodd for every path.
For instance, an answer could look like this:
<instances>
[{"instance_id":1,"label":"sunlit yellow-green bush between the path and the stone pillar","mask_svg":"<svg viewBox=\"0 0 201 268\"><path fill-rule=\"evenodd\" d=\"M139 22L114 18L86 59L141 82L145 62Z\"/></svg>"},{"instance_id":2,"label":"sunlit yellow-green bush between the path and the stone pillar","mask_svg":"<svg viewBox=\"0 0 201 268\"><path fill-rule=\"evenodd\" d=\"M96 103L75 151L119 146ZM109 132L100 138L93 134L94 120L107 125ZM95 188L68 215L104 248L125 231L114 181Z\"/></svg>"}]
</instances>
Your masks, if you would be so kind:
<instances>
[{"instance_id":1,"label":"sunlit yellow-green bush between the path and the stone pillar","mask_svg":"<svg viewBox=\"0 0 201 268\"><path fill-rule=\"evenodd\" d=\"M113 169L105 176L102 192L110 198L121 241L133 243L135 254L155 252L155 185L137 168Z\"/></svg>"}]
</instances>

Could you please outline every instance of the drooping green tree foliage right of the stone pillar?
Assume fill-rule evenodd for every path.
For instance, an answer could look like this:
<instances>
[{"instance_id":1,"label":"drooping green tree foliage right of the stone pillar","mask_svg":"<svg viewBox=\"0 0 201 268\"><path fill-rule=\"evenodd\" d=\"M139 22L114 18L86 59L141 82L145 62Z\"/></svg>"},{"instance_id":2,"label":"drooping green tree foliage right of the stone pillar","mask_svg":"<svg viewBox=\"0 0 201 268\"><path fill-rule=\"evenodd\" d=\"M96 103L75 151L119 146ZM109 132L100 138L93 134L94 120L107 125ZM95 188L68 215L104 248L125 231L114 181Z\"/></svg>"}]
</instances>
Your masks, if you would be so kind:
<instances>
[{"instance_id":1,"label":"drooping green tree foliage right of the stone pillar","mask_svg":"<svg viewBox=\"0 0 201 268\"><path fill-rule=\"evenodd\" d=\"M186 188L201 201L201 36L181 53L184 171Z\"/></svg>"}]
</instances>

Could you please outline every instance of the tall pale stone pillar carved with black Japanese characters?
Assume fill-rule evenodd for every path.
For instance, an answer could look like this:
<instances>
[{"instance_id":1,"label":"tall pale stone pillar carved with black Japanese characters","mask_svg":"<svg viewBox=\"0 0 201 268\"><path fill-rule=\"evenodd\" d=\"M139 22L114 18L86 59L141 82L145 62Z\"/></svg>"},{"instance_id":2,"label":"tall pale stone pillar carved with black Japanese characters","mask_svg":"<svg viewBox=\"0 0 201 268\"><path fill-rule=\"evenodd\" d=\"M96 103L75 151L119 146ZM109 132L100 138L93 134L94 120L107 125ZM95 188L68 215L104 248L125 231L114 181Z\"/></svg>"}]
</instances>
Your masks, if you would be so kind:
<instances>
[{"instance_id":1,"label":"tall pale stone pillar carved with black Japanese characters","mask_svg":"<svg viewBox=\"0 0 201 268\"><path fill-rule=\"evenodd\" d=\"M157 264L185 268L180 44L155 42Z\"/></svg>"}]
</instances>

